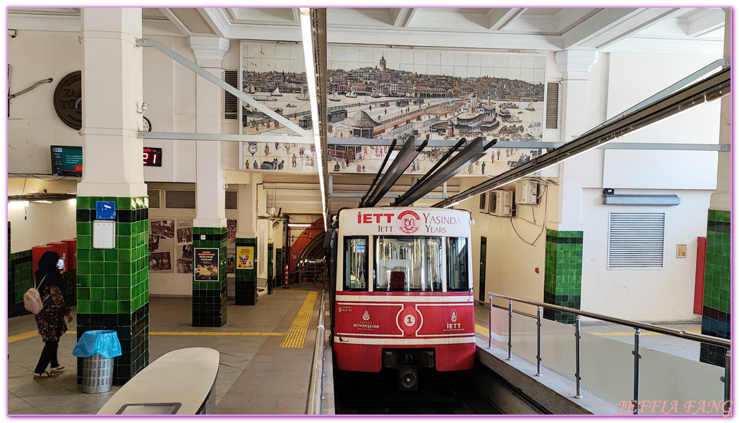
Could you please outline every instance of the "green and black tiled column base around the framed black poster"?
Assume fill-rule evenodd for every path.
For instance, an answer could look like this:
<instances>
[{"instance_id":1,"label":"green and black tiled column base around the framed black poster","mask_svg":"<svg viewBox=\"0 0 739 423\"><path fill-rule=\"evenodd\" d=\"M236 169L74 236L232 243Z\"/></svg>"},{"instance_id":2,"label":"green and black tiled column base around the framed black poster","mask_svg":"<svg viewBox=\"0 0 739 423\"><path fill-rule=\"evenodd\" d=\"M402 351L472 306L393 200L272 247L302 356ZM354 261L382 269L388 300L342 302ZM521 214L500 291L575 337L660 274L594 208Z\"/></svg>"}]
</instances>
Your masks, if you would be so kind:
<instances>
[{"instance_id":1,"label":"green and black tiled column base around the framed black poster","mask_svg":"<svg viewBox=\"0 0 739 423\"><path fill-rule=\"evenodd\" d=\"M192 283L192 326L220 327L226 324L226 227L192 228L193 254L198 248L219 251L218 280ZM197 257L195 258L197 264ZM197 274L197 269L195 269Z\"/></svg>"}]
</instances>

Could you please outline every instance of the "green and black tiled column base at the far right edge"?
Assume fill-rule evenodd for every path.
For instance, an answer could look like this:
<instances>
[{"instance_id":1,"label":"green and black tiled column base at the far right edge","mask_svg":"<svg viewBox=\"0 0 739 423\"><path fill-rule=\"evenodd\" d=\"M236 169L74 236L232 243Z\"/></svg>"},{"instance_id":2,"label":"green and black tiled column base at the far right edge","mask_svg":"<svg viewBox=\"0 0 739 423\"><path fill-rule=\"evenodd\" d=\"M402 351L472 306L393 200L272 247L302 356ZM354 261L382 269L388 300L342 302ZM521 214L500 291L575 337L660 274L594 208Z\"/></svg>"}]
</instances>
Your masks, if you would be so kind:
<instances>
[{"instance_id":1,"label":"green and black tiled column base at the far right edge","mask_svg":"<svg viewBox=\"0 0 739 423\"><path fill-rule=\"evenodd\" d=\"M731 212L708 210L701 333L731 339ZM726 348L701 343L701 362L723 367Z\"/></svg>"}]
</instances>

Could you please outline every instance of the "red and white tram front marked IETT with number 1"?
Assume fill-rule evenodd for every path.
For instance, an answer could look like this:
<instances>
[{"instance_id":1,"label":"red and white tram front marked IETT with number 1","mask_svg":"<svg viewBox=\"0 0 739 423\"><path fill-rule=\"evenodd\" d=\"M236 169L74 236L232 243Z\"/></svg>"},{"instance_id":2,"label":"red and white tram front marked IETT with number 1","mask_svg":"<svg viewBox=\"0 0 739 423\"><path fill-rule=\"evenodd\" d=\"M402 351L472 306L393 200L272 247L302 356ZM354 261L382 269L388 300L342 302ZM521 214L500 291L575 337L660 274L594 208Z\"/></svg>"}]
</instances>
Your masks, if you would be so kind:
<instances>
[{"instance_id":1,"label":"red and white tram front marked IETT with number 1","mask_svg":"<svg viewBox=\"0 0 739 423\"><path fill-rule=\"evenodd\" d=\"M472 368L471 223L465 210L339 212L333 354L340 370Z\"/></svg>"}]
</instances>

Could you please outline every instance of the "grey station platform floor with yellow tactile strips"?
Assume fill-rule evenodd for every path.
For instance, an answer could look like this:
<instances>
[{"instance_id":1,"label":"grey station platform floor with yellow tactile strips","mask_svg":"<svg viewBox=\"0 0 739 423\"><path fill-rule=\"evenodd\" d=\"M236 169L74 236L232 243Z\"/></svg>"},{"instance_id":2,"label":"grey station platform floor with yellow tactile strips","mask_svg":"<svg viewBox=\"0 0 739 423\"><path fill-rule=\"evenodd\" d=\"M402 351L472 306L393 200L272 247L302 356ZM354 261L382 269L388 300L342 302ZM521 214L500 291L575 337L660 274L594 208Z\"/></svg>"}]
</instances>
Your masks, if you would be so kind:
<instances>
[{"instance_id":1,"label":"grey station platform floor with yellow tactile strips","mask_svg":"<svg viewBox=\"0 0 739 423\"><path fill-rule=\"evenodd\" d=\"M188 347L215 348L220 353L216 382L217 415L302 415L307 400L313 346L321 303L321 284L290 284L259 298L256 306L228 303L228 323L220 328L191 326L190 298L149 298L149 362L169 351ZM328 308L328 306L327 306ZM73 314L74 314L74 309ZM330 313L327 312L329 326ZM475 306L478 351L487 345L488 307ZM72 320L61 337L61 373L33 379L43 343L32 315L7 320L7 413L10 415L95 414L120 388L106 393L82 393L77 384L77 337ZM689 324L681 329L700 330ZM583 325L583 331L630 342L633 333L607 325ZM698 360L695 345L653 334L644 345L690 360ZM333 414L331 350L325 350L323 413ZM182 371L188 371L183 368Z\"/></svg>"}]
</instances>

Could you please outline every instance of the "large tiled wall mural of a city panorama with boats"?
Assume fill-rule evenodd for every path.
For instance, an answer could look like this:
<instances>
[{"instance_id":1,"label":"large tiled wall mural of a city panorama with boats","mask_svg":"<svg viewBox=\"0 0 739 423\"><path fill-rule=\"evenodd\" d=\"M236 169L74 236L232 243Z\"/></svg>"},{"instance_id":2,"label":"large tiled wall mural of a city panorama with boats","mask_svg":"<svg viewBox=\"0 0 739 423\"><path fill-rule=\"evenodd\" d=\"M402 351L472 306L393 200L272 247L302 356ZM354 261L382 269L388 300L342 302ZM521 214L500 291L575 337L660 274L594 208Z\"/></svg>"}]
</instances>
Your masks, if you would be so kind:
<instances>
[{"instance_id":1,"label":"large tiled wall mural of a city panorama with boats","mask_svg":"<svg viewBox=\"0 0 739 423\"><path fill-rule=\"evenodd\" d=\"M301 128L312 128L300 44L242 42L241 89ZM328 46L328 137L541 141L546 56ZM294 135L242 103L242 134ZM328 170L376 173L389 147L330 145ZM396 148L396 151L398 149ZM425 173L448 148L426 147L406 173ZM317 171L313 144L244 142L243 169ZM491 148L460 175L497 175L542 150ZM392 158L392 157L391 157Z\"/></svg>"}]
</instances>

